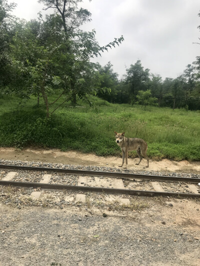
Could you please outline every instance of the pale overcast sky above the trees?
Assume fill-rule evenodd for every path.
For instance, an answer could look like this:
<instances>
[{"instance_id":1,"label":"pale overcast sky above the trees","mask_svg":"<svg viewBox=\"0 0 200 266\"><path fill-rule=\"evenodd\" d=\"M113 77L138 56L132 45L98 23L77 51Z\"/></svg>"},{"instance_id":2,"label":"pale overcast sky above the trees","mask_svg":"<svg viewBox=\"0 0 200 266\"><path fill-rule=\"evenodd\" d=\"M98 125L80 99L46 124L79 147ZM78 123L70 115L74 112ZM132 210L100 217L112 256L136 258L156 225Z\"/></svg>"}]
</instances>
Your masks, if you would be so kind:
<instances>
[{"instance_id":1,"label":"pale overcast sky above the trees","mask_svg":"<svg viewBox=\"0 0 200 266\"><path fill-rule=\"evenodd\" d=\"M42 9L37 0L11 1L14 14L26 20ZM84 29L95 29L101 46L123 35L119 47L95 60L110 61L119 77L139 59L151 73L175 78L200 55L200 45L192 44L200 37L199 0L83 0L82 6L92 14Z\"/></svg>"}]
</instances>

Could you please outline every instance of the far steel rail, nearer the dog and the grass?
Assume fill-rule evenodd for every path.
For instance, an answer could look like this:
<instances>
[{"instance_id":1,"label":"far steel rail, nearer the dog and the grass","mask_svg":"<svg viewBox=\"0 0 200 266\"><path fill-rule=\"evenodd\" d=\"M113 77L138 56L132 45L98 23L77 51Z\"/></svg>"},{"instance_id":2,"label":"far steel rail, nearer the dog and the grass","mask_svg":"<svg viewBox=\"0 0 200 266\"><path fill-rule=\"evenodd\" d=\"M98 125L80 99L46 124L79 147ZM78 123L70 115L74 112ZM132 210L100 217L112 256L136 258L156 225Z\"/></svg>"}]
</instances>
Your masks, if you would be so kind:
<instances>
[{"instance_id":1,"label":"far steel rail, nearer the dog and the grass","mask_svg":"<svg viewBox=\"0 0 200 266\"><path fill-rule=\"evenodd\" d=\"M28 170L28 171L58 172L67 175L103 176L103 177L121 178L121 179L143 179L143 180L171 181L171 182L175 181L175 182L185 182L185 183L189 182L194 184L200 183L200 178L189 178L189 177L154 176L154 175L140 175L140 174L75 170L75 169L50 168L50 167L16 166L16 165L0 165L0 168L12 169L12 170L16 169L16 170Z\"/></svg>"}]
</instances>

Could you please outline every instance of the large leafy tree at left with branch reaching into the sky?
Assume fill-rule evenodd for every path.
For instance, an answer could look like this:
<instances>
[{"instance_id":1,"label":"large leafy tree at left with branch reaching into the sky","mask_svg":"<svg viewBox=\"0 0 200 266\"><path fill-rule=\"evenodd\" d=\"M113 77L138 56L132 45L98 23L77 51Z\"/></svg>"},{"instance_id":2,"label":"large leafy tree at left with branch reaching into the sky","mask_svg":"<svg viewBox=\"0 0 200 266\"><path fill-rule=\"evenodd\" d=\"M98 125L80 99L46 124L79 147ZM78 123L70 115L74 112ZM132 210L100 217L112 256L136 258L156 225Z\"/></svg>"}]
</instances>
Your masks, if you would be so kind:
<instances>
[{"instance_id":1,"label":"large leafy tree at left with branch reaching into the sky","mask_svg":"<svg viewBox=\"0 0 200 266\"><path fill-rule=\"evenodd\" d=\"M45 10L55 12L46 15L45 21L25 23L21 33L16 34L12 45L12 66L16 73L17 91L28 97L41 94L46 107L46 116L52 114L66 101L76 104L77 97L88 101L87 94L94 89L96 69L89 61L93 55L108 50L123 41L121 36L100 47L95 40L95 31L85 32L79 26L89 21L90 13L79 8L81 0L40 0ZM48 94L61 90L58 98L48 102ZM49 111L57 100L63 102ZM88 101L89 102L89 101Z\"/></svg>"}]
</instances>

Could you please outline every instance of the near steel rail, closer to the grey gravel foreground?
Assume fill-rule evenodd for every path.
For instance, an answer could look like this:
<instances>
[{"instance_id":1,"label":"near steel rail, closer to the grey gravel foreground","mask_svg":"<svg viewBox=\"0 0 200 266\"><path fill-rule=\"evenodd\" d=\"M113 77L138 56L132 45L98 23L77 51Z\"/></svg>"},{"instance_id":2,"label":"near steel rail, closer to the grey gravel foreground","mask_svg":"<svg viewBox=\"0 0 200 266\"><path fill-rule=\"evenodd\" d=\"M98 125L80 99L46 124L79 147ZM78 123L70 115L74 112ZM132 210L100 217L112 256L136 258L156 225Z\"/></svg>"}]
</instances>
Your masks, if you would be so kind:
<instances>
[{"instance_id":1,"label":"near steel rail, closer to the grey gravel foreground","mask_svg":"<svg viewBox=\"0 0 200 266\"><path fill-rule=\"evenodd\" d=\"M17 182L17 181L3 181L0 180L0 186L26 187L26 188L41 188L48 190L71 190L71 191L89 191L100 192L106 194L120 194L132 196L146 196L146 197L184 197L184 198L200 198L200 194L189 193L175 193L175 192L158 192L158 191L144 191L144 190L128 190L128 189L111 189L87 186L72 186L72 185L56 185L33 182Z\"/></svg>"}]
</instances>

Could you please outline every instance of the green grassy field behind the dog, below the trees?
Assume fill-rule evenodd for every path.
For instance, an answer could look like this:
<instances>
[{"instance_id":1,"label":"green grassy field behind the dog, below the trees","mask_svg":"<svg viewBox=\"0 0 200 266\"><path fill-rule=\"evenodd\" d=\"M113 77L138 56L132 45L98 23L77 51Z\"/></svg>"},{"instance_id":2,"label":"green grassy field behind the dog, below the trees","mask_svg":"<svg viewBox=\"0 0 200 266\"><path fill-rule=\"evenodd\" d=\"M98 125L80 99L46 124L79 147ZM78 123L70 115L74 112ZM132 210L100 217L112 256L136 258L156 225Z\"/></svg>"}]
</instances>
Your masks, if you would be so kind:
<instances>
[{"instance_id":1,"label":"green grassy field behind the dog, below the trees","mask_svg":"<svg viewBox=\"0 0 200 266\"><path fill-rule=\"evenodd\" d=\"M50 97L50 101L55 99ZM110 104L91 97L90 108L79 101L76 108L63 104L46 119L36 98L18 105L16 97L0 99L0 146L44 147L63 151L79 150L96 155L118 155L113 131L148 143L147 156L153 159L200 160L200 112L184 109ZM57 102L59 104L61 98ZM136 157L136 152L129 156Z\"/></svg>"}]
</instances>

